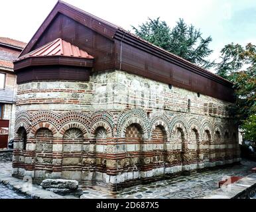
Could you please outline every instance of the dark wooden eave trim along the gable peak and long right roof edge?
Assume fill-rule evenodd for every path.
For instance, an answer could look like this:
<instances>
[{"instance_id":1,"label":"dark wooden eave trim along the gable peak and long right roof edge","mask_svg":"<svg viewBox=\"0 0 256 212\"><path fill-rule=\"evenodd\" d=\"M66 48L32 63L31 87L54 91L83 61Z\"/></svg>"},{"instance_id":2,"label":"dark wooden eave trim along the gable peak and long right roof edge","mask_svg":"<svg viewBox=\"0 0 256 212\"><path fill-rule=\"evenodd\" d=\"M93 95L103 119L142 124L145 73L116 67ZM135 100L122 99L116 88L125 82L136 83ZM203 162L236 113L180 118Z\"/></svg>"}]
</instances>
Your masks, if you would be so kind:
<instances>
[{"instance_id":1,"label":"dark wooden eave trim along the gable peak and long right roof edge","mask_svg":"<svg viewBox=\"0 0 256 212\"><path fill-rule=\"evenodd\" d=\"M194 72L196 74L199 74L200 76L204 76L208 79L212 79L213 81L216 81L218 83L221 83L222 85L225 85L227 87L232 87L233 83L230 81L227 81L224 78L221 78L220 76L217 76L216 74L213 74L207 70L204 70L182 58L179 58L178 56L175 56L171 54L170 52L166 52L162 48L159 48L153 44L150 44L149 42L143 40L142 38L139 38L135 36L134 34L131 34L130 32L123 30L123 28L113 25L103 19L99 19L98 17L95 17L94 15L90 13L86 13L85 11L82 11L81 9L78 9L72 5L69 5L68 3L64 3L63 1L58 1L48 17L44 20L42 25L38 28L34 36L32 37L31 41L27 44L23 52L21 52L20 56L23 56L33 48L34 44L36 44L37 40L40 38L44 30L48 27L48 25L51 23L51 21L56 17L58 13L62 13L63 15L66 15L78 23L90 27L93 30L96 30L99 34L105 36L106 38L109 38L110 40L119 40L122 42L127 42L127 44L130 44L132 46L135 46L136 48L141 48L141 50L149 52L150 54L153 54L159 58L163 58L164 60L167 60L168 62L172 62L174 64L177 64L178 66L182 66L186 69L188 69L190 72ZM90 25L87 20L94 19L97 21L97 26ZM102 28L107 28L107 30L101 30Z\"/></svg>"}]
</instances>

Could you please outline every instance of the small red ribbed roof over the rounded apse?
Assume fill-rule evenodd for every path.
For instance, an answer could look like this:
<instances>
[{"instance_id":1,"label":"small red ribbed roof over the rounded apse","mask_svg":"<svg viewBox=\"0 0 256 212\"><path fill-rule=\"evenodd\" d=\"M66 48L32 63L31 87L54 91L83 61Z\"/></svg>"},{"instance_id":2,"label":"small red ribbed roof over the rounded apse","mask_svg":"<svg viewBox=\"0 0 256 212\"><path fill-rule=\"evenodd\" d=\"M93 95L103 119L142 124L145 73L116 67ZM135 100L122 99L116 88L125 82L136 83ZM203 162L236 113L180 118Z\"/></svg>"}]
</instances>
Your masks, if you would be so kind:
<instances>
[{"instance_id":1,"label":"small red ribbed roof over the rounded apse","mask_svg":"<svg viewBox=\"0 0 256 212\"><path fill-rule=\"evenodd\" d=\"M48 44L45 44L44 46L30 52L29 54L25 54L17 60L23 60L28 57L36 56L68 56L74 58L94 59L93 56L91 56L84 50L81 50L80 48L78 48L78 46L74 46L70 44L70 42L62 40L62 38L57 38L56 40L49 42Z\"/></svg>"}]
</instances>

